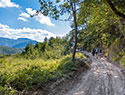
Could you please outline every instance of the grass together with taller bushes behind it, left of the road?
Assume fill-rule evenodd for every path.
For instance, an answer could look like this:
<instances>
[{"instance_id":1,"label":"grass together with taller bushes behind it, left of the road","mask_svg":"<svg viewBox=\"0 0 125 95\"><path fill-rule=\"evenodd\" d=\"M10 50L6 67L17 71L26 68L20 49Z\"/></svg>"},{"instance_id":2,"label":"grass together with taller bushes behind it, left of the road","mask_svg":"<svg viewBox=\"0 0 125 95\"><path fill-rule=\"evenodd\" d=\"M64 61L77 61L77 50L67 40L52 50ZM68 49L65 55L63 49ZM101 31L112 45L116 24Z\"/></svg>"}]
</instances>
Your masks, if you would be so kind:
<instances>
[{"instance_id":1,"label":"grass together with taller bushes behind it, left of the road","mask_svg":"<svg viewBox=\"0 0 125 95\"><path fill-rule=\"evenodd\" d=\"M61 38L50 38L36 45L28 44L22 54L1 55L0 95L17 94L35 88L44 88L76 70L79 61L72 62L72 54L65 51ZM62 50L61 50L62 49ZM82 53L77 58L86 60Z\"/></svg>"}]
</instances>

